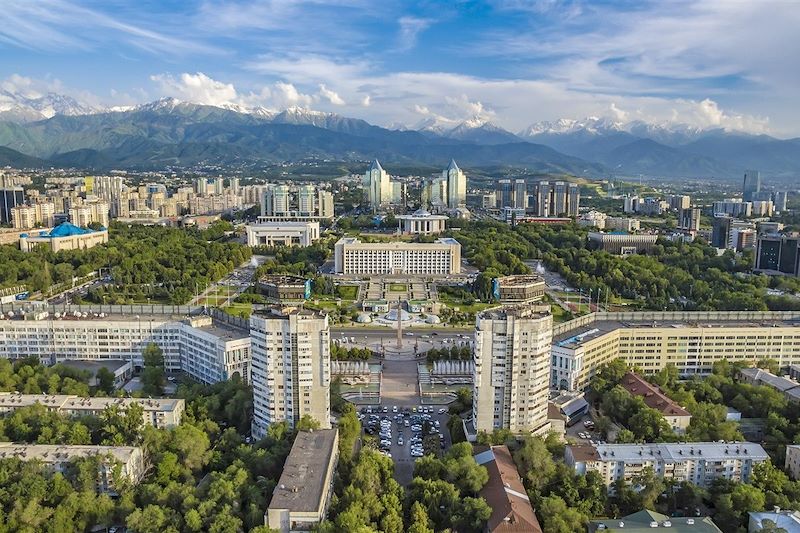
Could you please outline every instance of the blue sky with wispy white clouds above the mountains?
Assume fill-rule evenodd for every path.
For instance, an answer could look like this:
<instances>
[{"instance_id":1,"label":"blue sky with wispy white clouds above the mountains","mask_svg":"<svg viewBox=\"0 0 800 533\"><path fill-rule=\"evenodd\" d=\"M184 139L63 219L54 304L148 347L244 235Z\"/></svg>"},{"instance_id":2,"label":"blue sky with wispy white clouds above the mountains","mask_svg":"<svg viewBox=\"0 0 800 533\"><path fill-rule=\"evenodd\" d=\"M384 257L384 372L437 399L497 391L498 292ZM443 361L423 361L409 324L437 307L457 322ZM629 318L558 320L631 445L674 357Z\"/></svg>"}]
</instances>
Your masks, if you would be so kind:
<instances>
[{"instance_id":1,"label":"blue sky with wispy white clouds above the mountains","mask_svg":"<svg viewBox=\"0 0 800 533\"><path fill-rule=\"evenodd\" d=\"M0 88L362 118L800 136L800 2L0 0Z\"/></svg>"}]
</instances>

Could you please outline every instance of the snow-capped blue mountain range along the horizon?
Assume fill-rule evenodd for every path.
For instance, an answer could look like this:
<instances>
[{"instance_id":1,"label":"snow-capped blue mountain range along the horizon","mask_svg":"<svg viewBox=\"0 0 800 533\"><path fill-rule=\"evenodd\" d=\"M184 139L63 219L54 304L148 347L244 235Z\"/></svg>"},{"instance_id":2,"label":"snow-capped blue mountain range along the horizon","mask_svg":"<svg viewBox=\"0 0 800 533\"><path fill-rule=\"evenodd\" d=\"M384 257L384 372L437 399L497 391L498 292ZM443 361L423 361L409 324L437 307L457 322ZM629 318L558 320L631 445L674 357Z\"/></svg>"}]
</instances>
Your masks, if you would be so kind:
<instances>
[{"instance_id":1,"label":"snow-capped blue mountain range along the horizon","mask_svg":"<svg viewBox=\"0 0 800 533\"><path fill-rule=\"evenodd\" d=\"M0 164L140 168L305 159L515 166L592 176L738 178L747 168L800 173L800 138L590 117L516 134L485 117L428 118L412 128L292 107L201 105L164 98L98 109L57 94L0 91ZM16 155L15 155L16 154ZM23 166L18 163L18 166Z\"/></svg>"}]
</instances>

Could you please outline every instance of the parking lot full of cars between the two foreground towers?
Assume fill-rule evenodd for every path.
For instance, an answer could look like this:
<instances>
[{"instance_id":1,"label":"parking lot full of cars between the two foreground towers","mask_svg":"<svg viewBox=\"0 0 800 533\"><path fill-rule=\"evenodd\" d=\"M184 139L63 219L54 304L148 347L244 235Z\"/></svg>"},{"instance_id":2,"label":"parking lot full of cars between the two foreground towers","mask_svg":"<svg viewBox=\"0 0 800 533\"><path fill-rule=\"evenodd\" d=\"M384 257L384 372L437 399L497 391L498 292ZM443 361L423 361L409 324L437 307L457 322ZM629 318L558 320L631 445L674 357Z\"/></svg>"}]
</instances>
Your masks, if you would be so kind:
<instances>
[{"instance_id":1,"label":"parking lot full of cars between the two foreground towers","mask_svg":"<svg viewBox=\"0 0 800 533\"><path fill-rule=\"evenodd\" d=\"M359 418L365 434L374 436L379 449L394 461L401 485L411 483L414 461L452 444L444 405L372 405L362 408Z\"/></svg>"}]
</instances>

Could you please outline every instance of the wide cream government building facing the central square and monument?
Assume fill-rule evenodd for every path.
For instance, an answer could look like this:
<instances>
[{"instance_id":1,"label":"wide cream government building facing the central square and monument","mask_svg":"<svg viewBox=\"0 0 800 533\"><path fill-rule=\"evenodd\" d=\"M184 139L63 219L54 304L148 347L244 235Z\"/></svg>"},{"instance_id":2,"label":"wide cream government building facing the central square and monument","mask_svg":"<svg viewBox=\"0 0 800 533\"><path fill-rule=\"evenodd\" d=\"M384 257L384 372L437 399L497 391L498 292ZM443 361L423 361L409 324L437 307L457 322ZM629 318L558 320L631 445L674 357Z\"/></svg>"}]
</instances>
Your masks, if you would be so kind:
<instances>
[{"instance_id":1,"label":"wide cream government building facing the central square and monument","mask_svg":"<svg viewBox=\"0 0 800 533\"><path fill-rule=\"evenodd\" d=\"M337 274L447 276L461 272L461 244L452 238L432 243L363 243L343 237L334 247Z\"/></svg>"}]
</instances>

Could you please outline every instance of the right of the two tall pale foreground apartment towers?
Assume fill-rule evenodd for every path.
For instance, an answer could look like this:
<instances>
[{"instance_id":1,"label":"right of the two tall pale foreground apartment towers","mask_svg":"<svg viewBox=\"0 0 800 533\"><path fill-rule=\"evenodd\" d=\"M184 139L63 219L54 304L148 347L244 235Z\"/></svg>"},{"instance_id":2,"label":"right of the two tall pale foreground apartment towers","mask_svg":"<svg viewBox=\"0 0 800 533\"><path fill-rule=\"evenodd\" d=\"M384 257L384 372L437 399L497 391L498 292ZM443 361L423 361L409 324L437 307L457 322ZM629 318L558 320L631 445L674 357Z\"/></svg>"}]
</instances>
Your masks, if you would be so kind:
<instances>
[{"instance_id":1,"label":"right of the two tall pale foreground apartment towers","mask_svg":"<svg viewBox=\"0 0 800 533\"><path fill-rule=\"evenodd\" d=\"M478 314L472 409L477 431L549 431L552 328L548 306L500 307Z\"/></svg>"}]
</instances>

